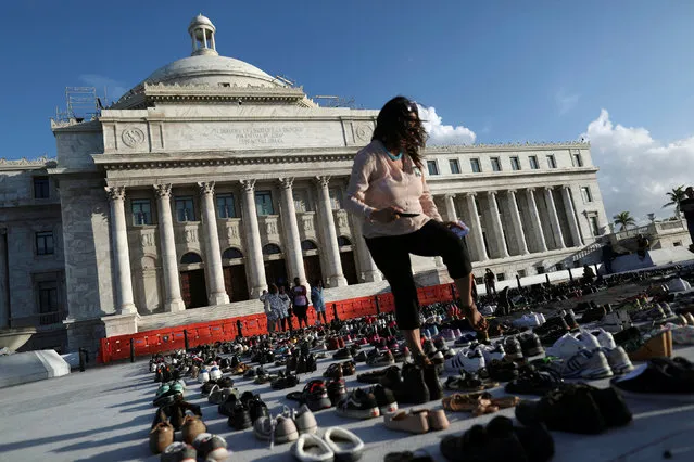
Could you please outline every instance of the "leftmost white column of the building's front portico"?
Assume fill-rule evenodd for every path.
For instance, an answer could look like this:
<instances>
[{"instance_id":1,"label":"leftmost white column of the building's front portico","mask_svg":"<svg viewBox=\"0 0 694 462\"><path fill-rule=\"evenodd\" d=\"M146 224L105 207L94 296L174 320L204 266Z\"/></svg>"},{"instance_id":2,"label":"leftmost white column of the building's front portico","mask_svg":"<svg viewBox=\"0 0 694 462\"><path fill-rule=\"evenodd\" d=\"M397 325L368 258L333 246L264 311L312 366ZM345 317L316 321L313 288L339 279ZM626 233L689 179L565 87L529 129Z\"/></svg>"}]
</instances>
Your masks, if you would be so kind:
<instances>
[{"instance_id":1,"label":"leftmost white column of the building's front portico","mask_svg":"<svg viewBox=\"0 0 694 462\"><path fill-rule=\"evenodd\" d=\"M111 235L116 270L117 311L122 315L131 315L137 312L137 308L133 299L130 251L128 248L128 229L125 222L125 187L106 187L104 189L111 203Z\"/></svg>"}]
</instances>

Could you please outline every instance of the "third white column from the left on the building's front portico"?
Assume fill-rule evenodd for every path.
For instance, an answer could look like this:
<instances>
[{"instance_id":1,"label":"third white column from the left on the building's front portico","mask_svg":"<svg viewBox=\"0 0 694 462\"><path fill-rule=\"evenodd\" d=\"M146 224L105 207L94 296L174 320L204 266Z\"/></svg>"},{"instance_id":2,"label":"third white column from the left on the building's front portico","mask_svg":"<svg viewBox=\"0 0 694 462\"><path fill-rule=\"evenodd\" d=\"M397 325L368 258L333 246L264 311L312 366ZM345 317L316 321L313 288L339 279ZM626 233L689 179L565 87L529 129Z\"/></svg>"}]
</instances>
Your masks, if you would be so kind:
<instances>
[{"instance_id":1,"label":"third white column from the left on the building's front portico","mask_svg":"<svg viewBox=\"0 0 694 462\"><path fill-rule=\"evenodd\" d=\"M207 303L210 305L225 305L229 303L229 295L224 286L224 269L222 267L222 251L219 249L219 234L217 232L217 214L214 205L214 181L199 182L200 200L202 202L202 226L205 233L207 255L207 274L210 284Z\"/></svg>"}]
</instances>

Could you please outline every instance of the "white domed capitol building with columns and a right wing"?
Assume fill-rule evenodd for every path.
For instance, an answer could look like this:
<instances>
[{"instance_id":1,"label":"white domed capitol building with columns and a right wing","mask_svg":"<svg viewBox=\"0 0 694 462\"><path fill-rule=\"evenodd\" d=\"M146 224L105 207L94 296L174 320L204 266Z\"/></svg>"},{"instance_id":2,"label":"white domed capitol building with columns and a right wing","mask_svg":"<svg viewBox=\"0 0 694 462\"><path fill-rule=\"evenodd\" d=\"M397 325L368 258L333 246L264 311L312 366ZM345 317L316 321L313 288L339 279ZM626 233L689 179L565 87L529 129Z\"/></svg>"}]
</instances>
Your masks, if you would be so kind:
<instances>
[{"instance_id":1,"label":"white domed capitol building with columns and a right wing","mask_svg":"<svg viewBox=\"0 0 694 462\"><path fill-rule=\"evenodd\" d=\"M387 287L342 207L378 111L320 107L219 56L206 17L188 30L191 56L93 120L53 120L56 159L0 162L0 346L93 351L262 311L267 283L294 277L323 279L328 299ZM426 163L442 216L472 229L477 277L578 265L608 232L586 143L433 146ZM447 281L436 259L413 267Z\"/></svg>"}]
</instances>

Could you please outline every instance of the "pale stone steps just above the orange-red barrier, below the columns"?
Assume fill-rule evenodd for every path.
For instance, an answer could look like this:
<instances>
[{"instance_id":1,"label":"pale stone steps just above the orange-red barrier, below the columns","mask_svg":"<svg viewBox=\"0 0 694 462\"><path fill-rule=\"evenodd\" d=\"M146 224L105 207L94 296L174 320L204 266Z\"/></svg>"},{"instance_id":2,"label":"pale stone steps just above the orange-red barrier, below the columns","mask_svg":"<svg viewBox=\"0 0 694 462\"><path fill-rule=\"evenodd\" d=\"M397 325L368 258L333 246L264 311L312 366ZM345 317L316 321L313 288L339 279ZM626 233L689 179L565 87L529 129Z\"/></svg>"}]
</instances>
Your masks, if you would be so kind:
<instances>
[{"instance_id":1,"label":"pale stone steps just above the orange-red barrier, below the columns","mask_svg":"<svg viewBox=\"0 0 694 462\"><path fill-rule=\"evenodd\" d=\"M330 303L344 300L348 298L366 297L383 292L390 292L388 282L369 282L366 284L348 285L344 287L326 288L324 298L326 306L330 309ZM206 321L217 321L220 319L238 318L263 312L261 300L245 300L234 304L216 305L189 309L180 312L161 312L156 315L143 316L138 320L138 332L152 331L155 329L173 328L176 325L194 324Z\"/></svg>"}]
</instances>

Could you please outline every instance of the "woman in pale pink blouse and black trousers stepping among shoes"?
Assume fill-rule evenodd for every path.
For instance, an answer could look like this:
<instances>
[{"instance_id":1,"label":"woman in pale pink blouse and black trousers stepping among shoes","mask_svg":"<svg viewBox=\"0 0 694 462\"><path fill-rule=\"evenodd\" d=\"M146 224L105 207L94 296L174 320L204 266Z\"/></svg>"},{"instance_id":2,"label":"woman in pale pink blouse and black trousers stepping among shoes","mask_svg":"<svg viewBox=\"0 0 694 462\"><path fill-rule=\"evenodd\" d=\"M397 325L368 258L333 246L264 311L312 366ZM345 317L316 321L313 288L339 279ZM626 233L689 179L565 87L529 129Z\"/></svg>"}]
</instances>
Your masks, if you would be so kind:
<instances>
[{"instance_id":1,"label":"woman in pale pink blouse and black trousers stepping among shoes","mask_svg":"<svg viewBox=\"0 0 694 462\"><path fill-rule=\"evenodd\" d=\"M371 142L354 158L345 206L364 220L366 245L395 298L398 328L424 364L428 359L419 338L419 301L409 254L442 257L470 325L487 331L487 320L472 299L467 247L452 231L458 224L443 222L424 177L426 137L415 103L403 97L386 103Z\"/></svg>"}]
</instances>

